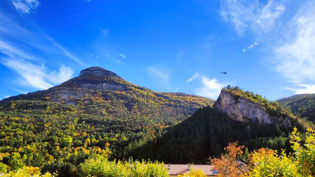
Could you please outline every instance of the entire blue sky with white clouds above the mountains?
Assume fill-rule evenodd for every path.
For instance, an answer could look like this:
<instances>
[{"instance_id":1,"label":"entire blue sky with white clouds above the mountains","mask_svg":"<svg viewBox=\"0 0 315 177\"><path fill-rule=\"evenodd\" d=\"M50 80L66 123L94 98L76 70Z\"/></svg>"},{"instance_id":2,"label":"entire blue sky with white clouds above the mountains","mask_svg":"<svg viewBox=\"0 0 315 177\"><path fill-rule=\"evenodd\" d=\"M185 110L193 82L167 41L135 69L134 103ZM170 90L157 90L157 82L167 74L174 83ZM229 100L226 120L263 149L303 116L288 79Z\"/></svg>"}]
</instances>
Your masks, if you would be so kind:
<instances>
[{"instance_id":1,"label":"entire blue sky with white clouds above the mountains","mask_svg":"<svg viewBox=\"0 0 315 177\"><path fill-rule=\"evenodd\" d=\"M214 99L227 85L270 100L315 93L314 11L314 0L1 0L0 99L90 66Z\"/></svg>"}]
</instances>

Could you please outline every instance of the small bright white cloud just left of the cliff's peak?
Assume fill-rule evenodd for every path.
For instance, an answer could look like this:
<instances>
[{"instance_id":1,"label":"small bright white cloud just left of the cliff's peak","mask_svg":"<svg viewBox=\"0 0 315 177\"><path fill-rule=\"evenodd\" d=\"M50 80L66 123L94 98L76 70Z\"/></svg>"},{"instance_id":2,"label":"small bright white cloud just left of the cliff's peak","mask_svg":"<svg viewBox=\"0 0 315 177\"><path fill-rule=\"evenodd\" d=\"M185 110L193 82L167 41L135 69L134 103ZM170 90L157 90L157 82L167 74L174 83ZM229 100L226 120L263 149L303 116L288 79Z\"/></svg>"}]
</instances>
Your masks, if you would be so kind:
<instances>
[{"instance_id":1,"label":"small bright white cloud just left of the cliff's peak","mask_svg":"<svg viewBox=\"0 0 315 177\"><path fill-rule=\"evenodd\" d=\"M195 89L197 95L217 99L224 85L215 78L210 79L207 76L200 76L200 79L202 87Z\"/></svg>"}]
</instances>

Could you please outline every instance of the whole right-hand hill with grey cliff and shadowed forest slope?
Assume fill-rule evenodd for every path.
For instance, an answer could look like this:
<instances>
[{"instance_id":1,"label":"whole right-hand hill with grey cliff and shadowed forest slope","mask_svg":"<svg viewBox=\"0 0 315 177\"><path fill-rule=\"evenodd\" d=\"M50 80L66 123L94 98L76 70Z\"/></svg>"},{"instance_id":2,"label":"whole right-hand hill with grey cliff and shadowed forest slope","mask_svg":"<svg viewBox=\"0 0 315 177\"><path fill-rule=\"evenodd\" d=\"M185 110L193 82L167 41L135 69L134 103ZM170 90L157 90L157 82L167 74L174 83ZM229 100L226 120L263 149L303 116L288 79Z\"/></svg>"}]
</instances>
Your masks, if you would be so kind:
<instances>
[{"instance_id":1,"label":"whole right-hand hill with grey cliff and shadowed forest slope","mask_svg":"<svg viewBox=\"0 0 315 177\"><path fill-rule=\"evenodd\" d=\"M228 87L222 89L214 108L199 109L130 155L165 163L205 163L235 141L250 150L268 147L281 151L281 148L289 148L288 135L293 127L304 131L311 126L276 102Z\"/></svg>"}]
</instances>

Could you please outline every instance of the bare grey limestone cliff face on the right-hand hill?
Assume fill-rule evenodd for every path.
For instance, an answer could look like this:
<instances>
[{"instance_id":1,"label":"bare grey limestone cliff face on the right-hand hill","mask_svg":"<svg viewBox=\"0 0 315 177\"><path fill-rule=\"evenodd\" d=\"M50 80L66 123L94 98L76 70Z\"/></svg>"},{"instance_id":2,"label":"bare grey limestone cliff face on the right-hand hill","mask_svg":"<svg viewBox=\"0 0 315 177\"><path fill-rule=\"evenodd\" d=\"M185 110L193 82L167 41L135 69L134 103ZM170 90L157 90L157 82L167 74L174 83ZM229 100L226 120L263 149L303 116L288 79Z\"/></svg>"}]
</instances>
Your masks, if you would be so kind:
<instances>
[{"instance_id":1,"label":"bare grey limestone cliff face on the right-hand hill","mask_svg":"<svg viewBox=\"0 0 315 177\"><path fill-rule=\"evenodd\" d=\"M223 89L215 103L215 108L239 121L248 121L251 119L254 121L257 120L261 124L291 126L291 118L270 116L259 104L246 98L237 97Z\"/></svg>"}]
</instances>

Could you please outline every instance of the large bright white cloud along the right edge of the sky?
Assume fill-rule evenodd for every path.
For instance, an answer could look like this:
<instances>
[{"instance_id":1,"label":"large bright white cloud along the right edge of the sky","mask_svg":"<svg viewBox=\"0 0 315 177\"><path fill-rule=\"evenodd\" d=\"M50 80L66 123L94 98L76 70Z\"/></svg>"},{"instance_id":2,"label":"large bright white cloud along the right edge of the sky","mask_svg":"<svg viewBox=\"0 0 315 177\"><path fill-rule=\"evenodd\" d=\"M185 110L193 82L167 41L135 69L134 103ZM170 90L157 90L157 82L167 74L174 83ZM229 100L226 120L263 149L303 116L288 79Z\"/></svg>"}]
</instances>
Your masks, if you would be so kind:
<instances>
[{"instance_id":1,"label":"large bright white cloud along the right edge of the sky","mask_svg":"<svg viewBox=\"0 0 315 177\"><path fill-rule=\"evenodd\" d=\"M285 26L284 40L274 48L275 70L297 88L296 93L315 93L315 2L305 4Z\"/></svg>"}]
</instances>

